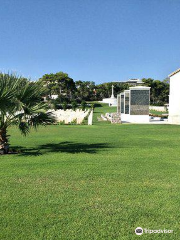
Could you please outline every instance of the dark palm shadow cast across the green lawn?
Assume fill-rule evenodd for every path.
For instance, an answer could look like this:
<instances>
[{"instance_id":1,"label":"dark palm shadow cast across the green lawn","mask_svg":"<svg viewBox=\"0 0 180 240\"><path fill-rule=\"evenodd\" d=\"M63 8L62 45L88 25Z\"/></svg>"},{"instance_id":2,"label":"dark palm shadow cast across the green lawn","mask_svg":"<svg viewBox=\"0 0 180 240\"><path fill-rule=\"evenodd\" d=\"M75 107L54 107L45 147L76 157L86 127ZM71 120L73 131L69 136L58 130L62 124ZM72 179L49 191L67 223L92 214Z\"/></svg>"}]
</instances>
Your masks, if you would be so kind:
<instances>
[{"instance_id":1,"label":"dark palm shadow cast across the green lawn","mask_svg":"<svg viewBox=\"0 0 180 240\"><path fill-rule=\"evenodd\" d=\"M61 153L97 153L100 149L110 148L107 143L74 143L74 142L60 142L39 145L35 148L23 148L20 146L13 146L13 149L23 156L39 156L49 152Z\"/></svg>"}]
</instances>

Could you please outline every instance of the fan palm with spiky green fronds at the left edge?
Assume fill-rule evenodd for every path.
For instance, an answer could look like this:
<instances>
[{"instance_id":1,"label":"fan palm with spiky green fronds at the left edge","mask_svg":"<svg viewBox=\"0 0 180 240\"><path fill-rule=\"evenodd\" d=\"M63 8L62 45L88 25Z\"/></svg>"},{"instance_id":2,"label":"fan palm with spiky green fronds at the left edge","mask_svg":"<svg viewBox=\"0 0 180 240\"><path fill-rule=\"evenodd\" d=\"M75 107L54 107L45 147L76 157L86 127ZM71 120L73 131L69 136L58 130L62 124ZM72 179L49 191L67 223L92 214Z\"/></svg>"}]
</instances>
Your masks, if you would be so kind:
<instances>
[{"instance_id":1,"label":"fan palm with spiky green fronds at the left edge","mask_svg":"<svg viewBox=\"0 0 180 240\"><path fill-rule=\"evenodd\" d=\"M52 122L47 105L41 101L42 86L12 74L0 73L0 152L9 152L7 135L17 125L23 135L31 128Z\"/></svg>"}]
</instances>

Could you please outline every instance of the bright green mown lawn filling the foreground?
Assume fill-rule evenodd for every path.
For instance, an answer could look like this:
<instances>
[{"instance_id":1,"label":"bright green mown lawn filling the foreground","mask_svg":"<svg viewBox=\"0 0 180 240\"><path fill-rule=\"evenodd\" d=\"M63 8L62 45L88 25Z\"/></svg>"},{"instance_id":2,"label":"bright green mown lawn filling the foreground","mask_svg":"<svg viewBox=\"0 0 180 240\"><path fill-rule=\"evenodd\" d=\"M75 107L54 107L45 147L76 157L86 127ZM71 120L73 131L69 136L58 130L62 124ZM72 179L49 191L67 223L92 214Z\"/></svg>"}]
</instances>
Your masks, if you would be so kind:
<instances>
[{"instance_id":1,"label":"bright green mown lawn filling the foreground","mask_svg":"<svg viewBox=\"0 0 180 240\"><path fill-rule=\"evenodd\" d=\"M109 111L93 126L10 130L22 153L0 156L1 240L180 239L180 126L96 121Z\"/></svg>"}]
</instances>

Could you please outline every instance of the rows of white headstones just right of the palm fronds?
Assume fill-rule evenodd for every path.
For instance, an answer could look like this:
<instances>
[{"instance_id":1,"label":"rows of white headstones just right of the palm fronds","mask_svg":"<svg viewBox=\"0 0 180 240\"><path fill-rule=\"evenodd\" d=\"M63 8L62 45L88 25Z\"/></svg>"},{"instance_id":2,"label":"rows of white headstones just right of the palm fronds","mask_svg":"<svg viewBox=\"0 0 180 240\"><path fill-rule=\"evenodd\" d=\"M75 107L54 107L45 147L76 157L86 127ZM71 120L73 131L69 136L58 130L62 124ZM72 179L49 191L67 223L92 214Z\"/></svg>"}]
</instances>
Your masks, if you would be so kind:
<instances>
[{"instance_id":1,"label":"rows of white headstones just right of the palm fronds","mask_svg":"<svg viewBox=\"0 0 180 240\"><path fill-rule=\"evenodd\" d=\"M67 110L52 110L52 114L54 115L57 122L63 122L65 124L69 124L72 122L76 122L76 124L81 124L85 117L89 114L90 110L83 111L82 109L77 109L73 111L72 109Z\"/></svg>"}]
</instances>

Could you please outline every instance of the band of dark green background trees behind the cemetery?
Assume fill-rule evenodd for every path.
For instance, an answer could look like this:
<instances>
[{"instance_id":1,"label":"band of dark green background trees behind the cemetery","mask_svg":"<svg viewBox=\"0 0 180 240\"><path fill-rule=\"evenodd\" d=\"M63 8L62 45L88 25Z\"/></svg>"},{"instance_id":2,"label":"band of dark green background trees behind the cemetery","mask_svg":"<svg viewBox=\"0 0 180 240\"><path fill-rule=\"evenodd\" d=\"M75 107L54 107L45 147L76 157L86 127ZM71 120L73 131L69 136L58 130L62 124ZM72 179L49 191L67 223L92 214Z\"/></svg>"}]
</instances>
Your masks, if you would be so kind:
<instances>
[{"instance_id":1,"label":"band of dark green background trees behind the cemetery","mask_svg":"<svg viewBox=\"0 0 180 240\"><path fill-rule=\"evenodd\" d=\"M163 105L168 103L169 78L164 81L143 78L142 81L145 86L151 87L151 104ZM130 86L126 82L95 84L93 81L74 81L73 78L64 72L45 74L39 79L39 82L43 83L47 97L50 98L53 94L58 96L57 103L100 101L111 96L112 84L114 85L115 96Z\"/></svg>"}]
</instances>

